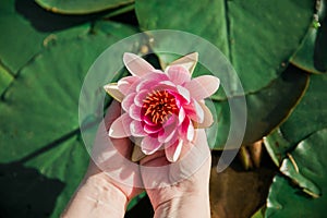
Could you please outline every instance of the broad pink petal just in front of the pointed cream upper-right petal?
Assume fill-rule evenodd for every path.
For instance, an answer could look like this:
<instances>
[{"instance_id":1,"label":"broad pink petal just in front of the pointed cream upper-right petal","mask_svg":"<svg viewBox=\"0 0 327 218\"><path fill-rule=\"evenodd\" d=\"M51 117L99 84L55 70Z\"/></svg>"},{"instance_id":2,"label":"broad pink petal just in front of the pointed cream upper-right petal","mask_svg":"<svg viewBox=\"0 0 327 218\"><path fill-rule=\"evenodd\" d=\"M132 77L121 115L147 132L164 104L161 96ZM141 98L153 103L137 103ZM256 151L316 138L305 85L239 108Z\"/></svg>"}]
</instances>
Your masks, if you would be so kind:
<instances>
[{"instance_id":1,"label":"broad pink petal just in front of the pointed cream upper-right petal","mask_svg":"<svg viewBox=\"0 0 327 218\"><path fill-rule=\"evenodd\" d=\"M166 72L175 85L182 85L191 81L190 72L182 65L171 65L166 69Z\"/></svg>"}]
</instances>

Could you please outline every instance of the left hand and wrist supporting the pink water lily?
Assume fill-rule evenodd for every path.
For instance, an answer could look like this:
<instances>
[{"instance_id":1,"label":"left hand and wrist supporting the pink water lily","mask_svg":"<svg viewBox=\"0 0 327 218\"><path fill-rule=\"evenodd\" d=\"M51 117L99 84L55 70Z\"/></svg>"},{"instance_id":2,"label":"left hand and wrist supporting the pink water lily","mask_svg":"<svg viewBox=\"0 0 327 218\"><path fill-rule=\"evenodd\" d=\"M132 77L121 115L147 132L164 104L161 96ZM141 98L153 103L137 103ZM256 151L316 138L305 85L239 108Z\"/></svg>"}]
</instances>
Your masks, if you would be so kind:
<instances>
[{"instance_id":1,"label":"left hand and wrist supporting the pink water lily","mask_svg":"<svg viewBox=\"0 0 327 218\"><path fill-rule=\"evenodd\" d=\"M131 141L108 136L120 113L113 101L98 128L87 172L62 217L123 217L129 201L143 191L140 168L129 161Z\"/></svg>"}]
</instances>

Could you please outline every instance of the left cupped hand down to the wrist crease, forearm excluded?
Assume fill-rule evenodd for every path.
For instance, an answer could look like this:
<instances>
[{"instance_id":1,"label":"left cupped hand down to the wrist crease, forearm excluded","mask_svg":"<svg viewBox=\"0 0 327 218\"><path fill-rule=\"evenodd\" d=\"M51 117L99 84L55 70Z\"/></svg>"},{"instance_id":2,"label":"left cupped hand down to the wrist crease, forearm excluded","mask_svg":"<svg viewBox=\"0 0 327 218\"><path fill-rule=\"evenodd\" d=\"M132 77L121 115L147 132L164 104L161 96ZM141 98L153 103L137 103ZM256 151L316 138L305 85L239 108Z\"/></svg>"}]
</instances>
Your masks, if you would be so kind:
<instances>
[{"instance_id":1,"label":"left cupped hand down to the wrist crease, forearm excluded","mask_svg":"<svg viewBox=\"0 0 327 218\"><path fill-rule=\"evenodd\" d=\"M138 166L131 161L133 145L130 138L111 138L108 136L110 125L120 114L121 106L118 101L113 101L98 128L93 147L93 160L86 177L97 174L106 178L108 182L120 189L130 201L143 191L141 189L142 178Z\"/></svg>"}]
</instances>

